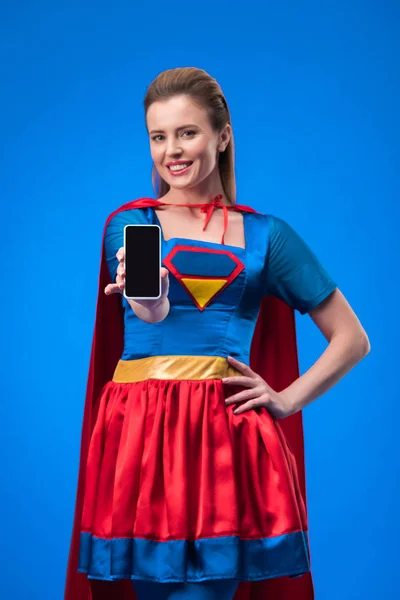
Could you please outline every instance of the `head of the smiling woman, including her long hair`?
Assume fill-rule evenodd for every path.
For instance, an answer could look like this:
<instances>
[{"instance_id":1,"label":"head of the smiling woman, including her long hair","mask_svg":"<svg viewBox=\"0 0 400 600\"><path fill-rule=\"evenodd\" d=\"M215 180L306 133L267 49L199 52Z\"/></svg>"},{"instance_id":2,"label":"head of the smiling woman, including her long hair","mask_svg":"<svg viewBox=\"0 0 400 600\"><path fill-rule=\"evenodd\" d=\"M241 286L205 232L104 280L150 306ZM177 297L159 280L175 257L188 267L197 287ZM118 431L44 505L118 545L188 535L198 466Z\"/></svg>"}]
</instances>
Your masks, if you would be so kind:
<instances>
[{"instance_id":1,"label":"head of the smiling woman, including her long hair","mask_svg":"<svg viewBox=\"0 0 400 600\"><path fill-rule=\"evenodd\" d=\"M188 192L196 184L193 193L197 201L209 202L212 189L233 204L233 131L228 104L218 82L201 69L164 71L149 86L144 108L157 195L165 197L171 189L167 163L189 160L197 162L197 171L191 169L191 179L188 172L184 183L179 183L186 188L184 201L190 200Z\"/></svg>"}]
</instances>

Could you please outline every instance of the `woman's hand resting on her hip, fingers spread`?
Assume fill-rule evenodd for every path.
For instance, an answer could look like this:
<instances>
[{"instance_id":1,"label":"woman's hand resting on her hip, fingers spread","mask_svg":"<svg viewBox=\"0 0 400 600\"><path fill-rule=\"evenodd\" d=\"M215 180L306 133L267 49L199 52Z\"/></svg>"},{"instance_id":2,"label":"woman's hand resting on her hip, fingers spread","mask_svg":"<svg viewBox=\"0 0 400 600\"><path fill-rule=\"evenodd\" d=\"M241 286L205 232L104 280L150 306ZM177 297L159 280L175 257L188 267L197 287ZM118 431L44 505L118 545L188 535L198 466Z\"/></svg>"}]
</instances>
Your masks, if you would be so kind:
<instances>
[{"instance_id":1,"label":"woman's hand resting on her hip, fingers spread","mask_svg":"<svg viewBox=\"0 0 400 600\"><path fill-rule=\"evenodd\" d=\"M263 406L276 419L284 419L297 412L292 402L282 393L275 392L260 375L257 375L249 366L228 356L229 364L243 373L243 377L224 377L222 382L227 385L240 385L248 388L225 400L227 406L244 402L233 412L238 415L246 410ZM247 402L246 402L247 400Z\"/></svg>"}]
</instances>

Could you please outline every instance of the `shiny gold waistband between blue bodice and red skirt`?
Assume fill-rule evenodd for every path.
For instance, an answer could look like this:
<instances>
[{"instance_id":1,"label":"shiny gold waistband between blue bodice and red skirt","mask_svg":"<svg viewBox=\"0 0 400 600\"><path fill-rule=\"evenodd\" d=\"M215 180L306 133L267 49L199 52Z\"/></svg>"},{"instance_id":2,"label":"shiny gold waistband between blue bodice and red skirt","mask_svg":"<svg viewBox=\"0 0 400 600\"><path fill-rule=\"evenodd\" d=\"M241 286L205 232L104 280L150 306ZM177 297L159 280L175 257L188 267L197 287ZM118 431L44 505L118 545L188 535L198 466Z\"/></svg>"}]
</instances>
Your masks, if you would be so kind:
<instances>
[{"instance_id":1,"label":"shiny gold waistband between blue bodice and red skirt","mask_svg":"<svg viewBox=\"0 0 400 600\"><path fill-rule=\"evenodd\" d=\"M146 379L222 379L241 375L222 356L149 356L120 360L114 372L116 383Z\"/></svg>"}]
</instances>

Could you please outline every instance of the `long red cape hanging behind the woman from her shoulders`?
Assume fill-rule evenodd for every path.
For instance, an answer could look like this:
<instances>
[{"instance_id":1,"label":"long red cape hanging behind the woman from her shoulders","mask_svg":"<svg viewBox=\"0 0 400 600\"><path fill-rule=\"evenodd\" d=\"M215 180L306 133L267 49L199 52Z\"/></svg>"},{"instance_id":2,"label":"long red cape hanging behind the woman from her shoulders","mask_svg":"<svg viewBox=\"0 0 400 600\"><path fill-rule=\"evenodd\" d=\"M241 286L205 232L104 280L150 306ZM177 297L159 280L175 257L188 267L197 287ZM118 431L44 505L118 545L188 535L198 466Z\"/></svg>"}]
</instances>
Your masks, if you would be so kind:
<instances>
[{"instance_id":1,"label":"long red cape hanging behind the woman from her shoulders","mask_svg":"<svg viewBox=\"0 0 400 600\"><path fill-rule=\"evenodd\" d=\"M137 600L130 580L89 580L85 574L78 573L77 568L85 466L90 437L96 421L100 392L113 377L123 352L124 340L120 296L104 294L104 288L111 283L104 253L104 234L108 223L117 213L158 205L159 202L151 198L124 204L108 217L103 231L96 320L83 414L78 487L64 600ZM256 212L247 206L237 205L237 208L245 212ZM251 346L250 366L277 391L290 385L299 376L294 312L281 300L265 297L262 301ZM281 420L280 425L296 457L301 491L306 501L302 412ZM311 573L294 579L278 577L254 583L240 583L234 597L234 600L272 599L314 600Z\"/></svg>"}]
</instances>

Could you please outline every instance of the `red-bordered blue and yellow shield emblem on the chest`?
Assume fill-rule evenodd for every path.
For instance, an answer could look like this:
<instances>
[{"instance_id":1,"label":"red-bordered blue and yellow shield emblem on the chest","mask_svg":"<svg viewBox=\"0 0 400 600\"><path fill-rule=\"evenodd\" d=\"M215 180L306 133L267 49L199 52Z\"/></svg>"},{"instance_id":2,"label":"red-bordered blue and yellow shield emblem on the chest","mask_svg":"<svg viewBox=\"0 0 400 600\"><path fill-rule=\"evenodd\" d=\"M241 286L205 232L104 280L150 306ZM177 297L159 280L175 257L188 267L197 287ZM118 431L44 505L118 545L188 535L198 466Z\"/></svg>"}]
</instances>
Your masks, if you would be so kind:
<instances>
[{"instance_id":1,"label":"red-bordered blue and yellow shield emblem on the chest","mask_svg":"<svg viewBox=\"0 0 400 600\"><path fill-rule=\"evenodd\" d=\"M206 255L212 254L212 270L208 275ZM229 250L197 246L175 246L163 264L184 287L200 311L203 311L243 271L244 264Z\"/></svg>"}]
</instances>

